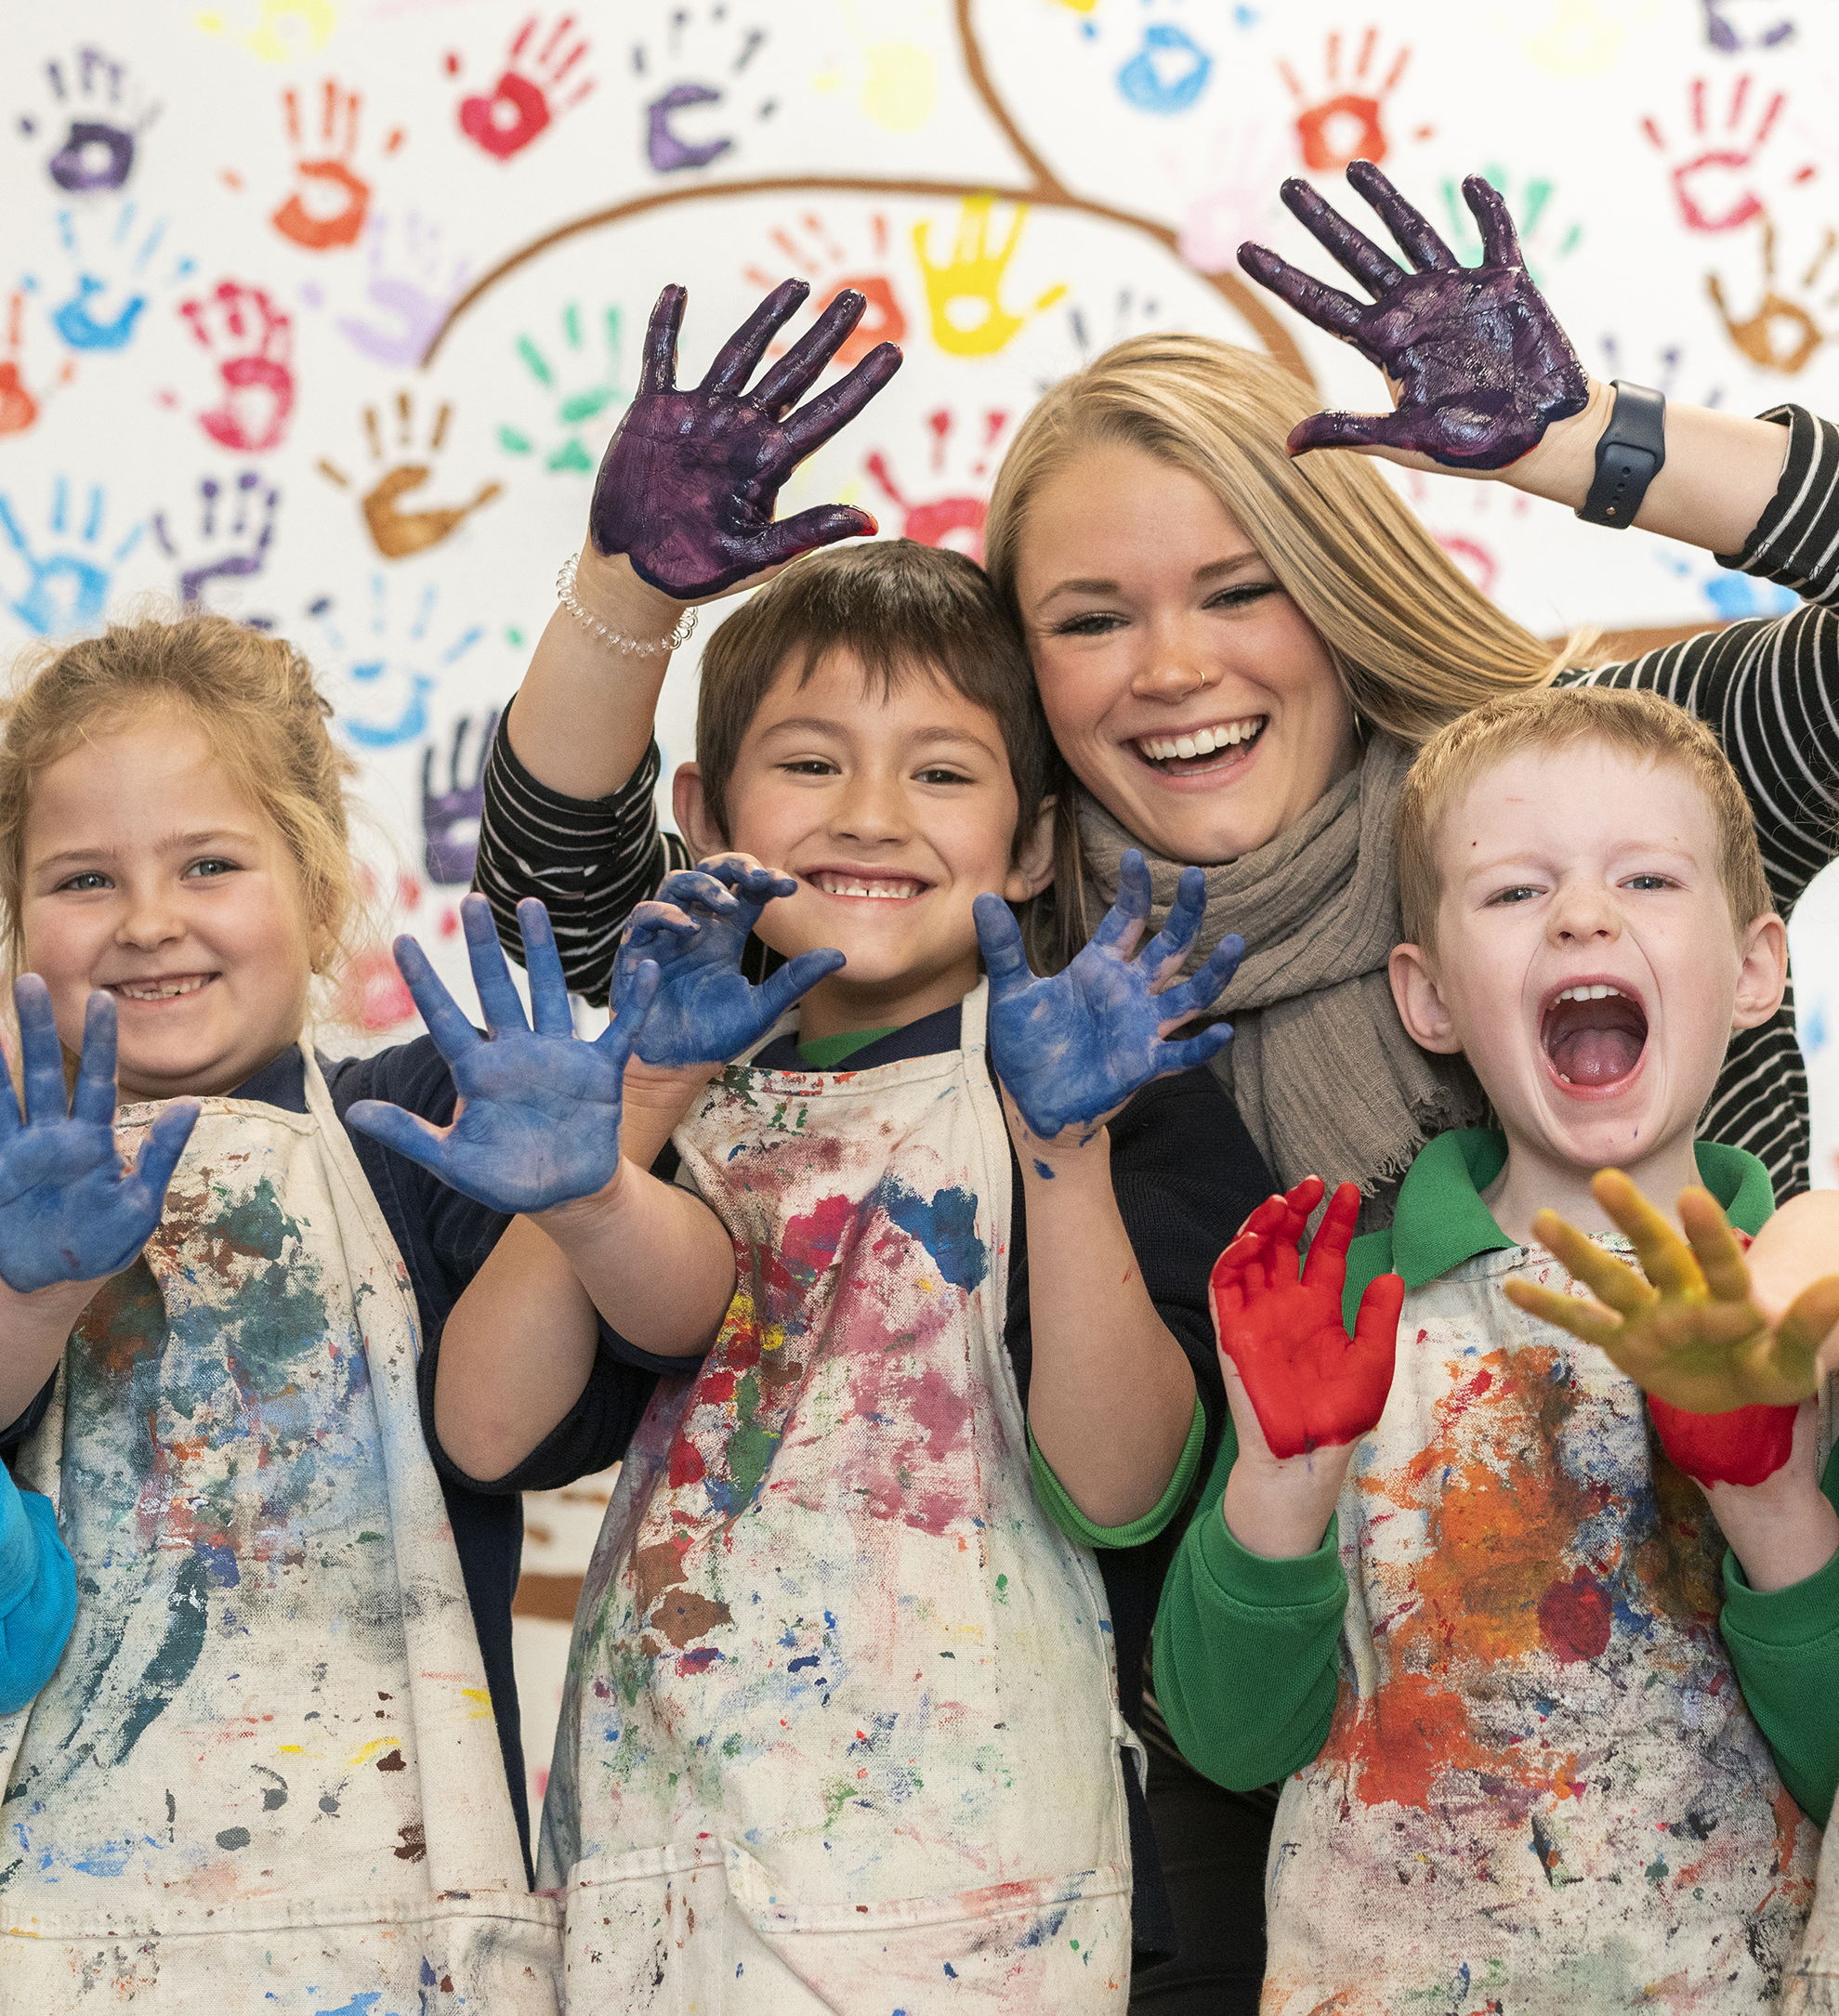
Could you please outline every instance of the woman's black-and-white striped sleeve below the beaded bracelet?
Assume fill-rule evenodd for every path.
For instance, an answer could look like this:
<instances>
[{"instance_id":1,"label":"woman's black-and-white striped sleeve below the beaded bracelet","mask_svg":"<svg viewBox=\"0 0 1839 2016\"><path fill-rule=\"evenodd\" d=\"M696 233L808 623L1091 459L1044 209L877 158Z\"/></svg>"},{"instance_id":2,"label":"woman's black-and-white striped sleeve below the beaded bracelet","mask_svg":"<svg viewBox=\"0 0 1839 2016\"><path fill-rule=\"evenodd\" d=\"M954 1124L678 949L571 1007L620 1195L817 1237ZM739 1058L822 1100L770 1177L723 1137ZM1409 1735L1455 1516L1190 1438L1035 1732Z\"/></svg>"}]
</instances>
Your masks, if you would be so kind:
<instances>
[{"instance_id":1,"label":"woman's black-and-white striped sleeve below the beaded bracelet","mask_svg":"<svg viewBox=\"0 0 1839 2016\"><path fill-rule=\"evenodd\" d=\"M540 897L571 992L603 1008L625 919L671 869L690 867L684 841L657 825L657 744L611 796L567 798L516 760L508 720L506 708L486 760L472 885L492 905L498 941L518 964L524 946L516 905Z\"/></svg>"}]
</instances>

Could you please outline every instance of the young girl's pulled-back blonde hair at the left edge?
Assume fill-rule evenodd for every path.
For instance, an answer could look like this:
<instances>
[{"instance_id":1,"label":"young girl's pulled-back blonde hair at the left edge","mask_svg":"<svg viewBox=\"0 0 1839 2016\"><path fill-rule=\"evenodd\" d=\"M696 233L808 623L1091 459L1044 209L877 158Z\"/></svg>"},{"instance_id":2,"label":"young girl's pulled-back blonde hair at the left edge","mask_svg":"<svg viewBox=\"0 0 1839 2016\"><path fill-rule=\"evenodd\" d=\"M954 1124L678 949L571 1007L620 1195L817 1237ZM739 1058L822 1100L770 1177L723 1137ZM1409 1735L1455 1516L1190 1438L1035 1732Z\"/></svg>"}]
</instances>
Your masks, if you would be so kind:
<instances>
[{"instance_id":1,"label":"young girl's pulled-back blonde hair at the left edge","mask_svg":"<svg viewBox=\"0 0 1839 2016\"><path fill-rule=\"evenodd\" d=\"M22 972L26 816L32 778L79 742L167 710L196 726L212 756L280 833L300 875L313 970L351 950L361 899L351 857L347 784L357 764L327 728L331 706L290 643L228 617L115 623L101 637L40 645L12 669L0 700L0 919L6 978Z\"/></svg>"}]
</instances>

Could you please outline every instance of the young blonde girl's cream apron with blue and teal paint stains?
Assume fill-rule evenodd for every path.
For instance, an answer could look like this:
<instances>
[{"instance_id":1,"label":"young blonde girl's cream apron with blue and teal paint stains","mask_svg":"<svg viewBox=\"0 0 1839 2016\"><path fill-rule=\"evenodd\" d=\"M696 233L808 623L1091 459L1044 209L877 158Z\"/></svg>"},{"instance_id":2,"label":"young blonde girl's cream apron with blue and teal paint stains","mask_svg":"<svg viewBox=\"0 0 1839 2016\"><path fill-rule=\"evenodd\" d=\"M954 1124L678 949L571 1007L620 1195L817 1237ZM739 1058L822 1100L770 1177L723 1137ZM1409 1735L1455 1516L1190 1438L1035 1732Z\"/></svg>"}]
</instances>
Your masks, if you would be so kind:
<instances>
[{"instance_id":1,"label":"young blonde girl's cream apron with blue and teal paint stains","mask_svg":"<svg viewBox=\"0 0 1839 2016\"><path fill-rule=\"evenodd\" d=\"M306 1103L204 1101L20 1464L79 1613L0 1722L0 2008L557 2008L407 1272L311 1052Z\"/></svg>"}]
</instances>

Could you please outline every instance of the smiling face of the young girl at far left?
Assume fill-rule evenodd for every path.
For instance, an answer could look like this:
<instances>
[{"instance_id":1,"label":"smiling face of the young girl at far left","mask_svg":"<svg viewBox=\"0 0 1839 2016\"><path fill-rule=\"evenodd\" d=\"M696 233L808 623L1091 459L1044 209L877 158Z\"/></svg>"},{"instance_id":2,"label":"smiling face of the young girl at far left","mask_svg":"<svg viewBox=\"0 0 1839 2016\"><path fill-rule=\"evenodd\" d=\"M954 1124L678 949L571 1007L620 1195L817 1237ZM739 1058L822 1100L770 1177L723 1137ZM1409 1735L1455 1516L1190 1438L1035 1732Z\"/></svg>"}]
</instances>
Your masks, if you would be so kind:
<instances>
[{"instance_id":1,"label":"smiling face of the young girl at far left","mask_svg":"<svg viewBox=\"0 0 1839 2016\"><path fill-rule=\"evenodd\" d=\"M274 823L183 714L81 742L32 778L24 964L83 1044L115 998L123 1099L232 1093L306 1024L313 923Z\"/></svg>"}]
</instances>

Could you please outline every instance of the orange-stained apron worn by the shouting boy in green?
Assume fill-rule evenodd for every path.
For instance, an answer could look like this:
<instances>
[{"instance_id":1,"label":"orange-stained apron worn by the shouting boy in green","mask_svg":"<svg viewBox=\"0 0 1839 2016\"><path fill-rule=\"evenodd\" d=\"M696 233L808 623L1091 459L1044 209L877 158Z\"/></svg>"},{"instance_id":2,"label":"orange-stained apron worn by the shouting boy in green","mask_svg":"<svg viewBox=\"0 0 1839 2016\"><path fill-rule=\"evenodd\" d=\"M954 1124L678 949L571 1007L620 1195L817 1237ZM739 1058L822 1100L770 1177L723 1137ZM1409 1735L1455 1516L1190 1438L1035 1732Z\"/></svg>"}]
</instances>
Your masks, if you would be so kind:
<instances>
[{"instance_id":1,"label":"orange-stained apron worn by the shouting boy in green","mask_svg":"<svg viewBox=\"0 0 1839 2016\"><path fill-rule=\"evenodd\" d=\"M1635 1383L1508 1276L1571 1286L1508 1248L1405 1296L1341 1490L1341 1697L1276 1810L1266 2016L1736 2016L1795 1968L1821 1837L1718 1635L1724 1536Z\"/></svg>"}]
</instances>

